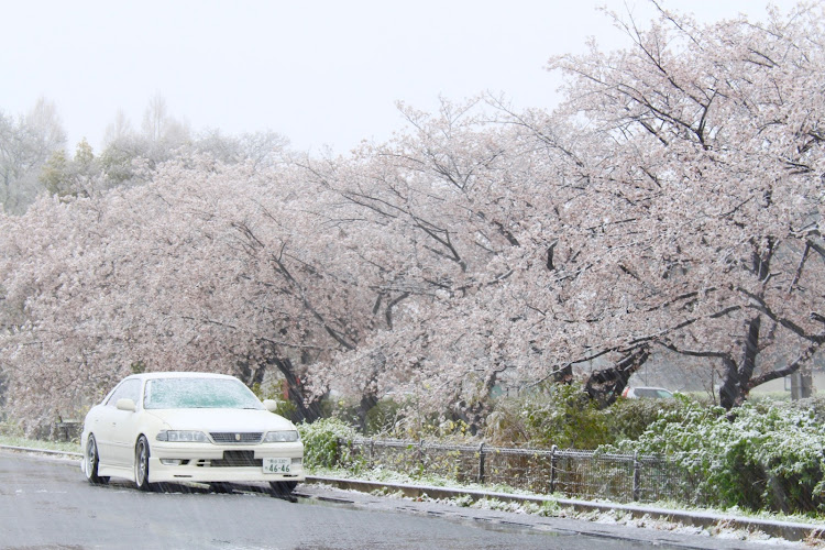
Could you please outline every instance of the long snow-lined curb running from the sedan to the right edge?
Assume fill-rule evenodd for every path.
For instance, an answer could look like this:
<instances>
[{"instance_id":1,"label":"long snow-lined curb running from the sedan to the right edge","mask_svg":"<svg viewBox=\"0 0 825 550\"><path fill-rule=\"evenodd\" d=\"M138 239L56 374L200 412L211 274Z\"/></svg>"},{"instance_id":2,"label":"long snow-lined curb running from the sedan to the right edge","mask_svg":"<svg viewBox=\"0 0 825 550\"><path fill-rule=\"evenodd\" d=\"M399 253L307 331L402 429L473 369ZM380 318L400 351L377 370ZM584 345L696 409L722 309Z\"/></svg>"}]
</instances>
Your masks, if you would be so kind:
<instances>
[{"instance_id":1,"label":"long snow-lined curb running from the sedan to the right edge","mask_svg":"<svg viewBox=\"0 0 825 550\"><path fill-rule=\"evenodd\" d=\"M578 501L572 498L552 498L541 496L514 495L512 493L496 493L479 490L466 490L459 487L438 487L428 485L409 485L400 483L371 482L364 480L346 480L341 477L310 476L305 483L323 483L334 485L339 488L372 493L374 491L396 491L410 498L427 496L430 498L455 498L469 496L473 501L496 499L506 503L557 504L561 507L572 508L576 512L623 512L632 518L648 517L651 519L663 519L686 526L712 528L725 526L733 529L748 531L761 531L772 537L780 537L789 541L822 540L825 539L825 525L800 524L790 521L776 521L770 519L747 518L712 513L691 513L656 508L637 505L594 503L591 501Z\"/></svg>"}]
</instances>

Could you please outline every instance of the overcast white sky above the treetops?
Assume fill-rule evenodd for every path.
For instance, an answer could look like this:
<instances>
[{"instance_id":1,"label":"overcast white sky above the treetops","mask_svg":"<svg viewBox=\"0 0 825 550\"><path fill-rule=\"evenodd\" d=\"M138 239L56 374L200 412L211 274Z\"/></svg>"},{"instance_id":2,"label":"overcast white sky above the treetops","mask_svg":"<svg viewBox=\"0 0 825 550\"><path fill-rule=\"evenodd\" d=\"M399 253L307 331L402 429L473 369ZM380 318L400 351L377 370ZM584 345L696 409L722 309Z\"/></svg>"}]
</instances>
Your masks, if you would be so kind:
<instances>
[{"instance_id":1,"label":"overcast white sky above the treetops","mask_svg":"<svg viewBox=\"0 0 825 550\"><path fill-rule=\"evenodd\" d=\"M662 3L713 21L761 18L768 1ZM345 153L398 130L398 100L432 110L492 91L552 107L550 55L617 44L597 6L649 13L645 0L0 0L0 111L45 97L69 148L86 136L97 151L118 111L140 128L160 94L196 131Z\"/></svg>"}]
</instances>

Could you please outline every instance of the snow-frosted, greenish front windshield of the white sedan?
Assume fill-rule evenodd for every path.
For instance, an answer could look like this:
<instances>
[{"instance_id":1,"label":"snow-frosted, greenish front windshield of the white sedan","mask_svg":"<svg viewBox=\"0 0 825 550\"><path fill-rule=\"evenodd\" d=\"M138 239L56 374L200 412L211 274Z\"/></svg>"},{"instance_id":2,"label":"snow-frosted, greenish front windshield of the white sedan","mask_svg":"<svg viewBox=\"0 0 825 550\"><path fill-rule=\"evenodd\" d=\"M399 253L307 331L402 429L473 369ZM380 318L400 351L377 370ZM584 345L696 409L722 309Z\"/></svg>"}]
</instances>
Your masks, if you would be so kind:
<instances>
[{"instance_id":1,"label":"snow-frosted, greenish front windshield of the white sedan","mask_svg":"<svg viewBox=\"0 0 825 550\"><path fill-rule=\"evenodd\" d=\"M146 382L147 409L261 409L263 405L242 382L232 378L155 378Z\"/></svg>"}]
</instances>

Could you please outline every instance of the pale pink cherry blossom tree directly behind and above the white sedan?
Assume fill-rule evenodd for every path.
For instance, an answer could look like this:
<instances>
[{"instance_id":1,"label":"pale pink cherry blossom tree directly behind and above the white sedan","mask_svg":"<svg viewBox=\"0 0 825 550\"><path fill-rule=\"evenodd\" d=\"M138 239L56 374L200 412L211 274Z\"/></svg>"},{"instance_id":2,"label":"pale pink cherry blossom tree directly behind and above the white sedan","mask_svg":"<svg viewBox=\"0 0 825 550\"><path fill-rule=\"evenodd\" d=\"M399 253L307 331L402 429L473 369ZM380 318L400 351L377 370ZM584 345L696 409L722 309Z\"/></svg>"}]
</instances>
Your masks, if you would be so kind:
<instances>
[{"instance_id":1,"label":"pale pink cherry blossom tree directly behind and above the white sedan","mask_svg":"<svg viewBox=\"0 0 825 550\"><path fill-rule=\"evenodd\" d=\"M232 372L250 385L277 370L299 415L316 417L299 375L354 349L373 317L330 237L339 230L314 213L323 189L284 165L208 156L151 179L3 218L11 406L33 415L56 394L68 414L134 369Z\"/></svg>"}]
</instances>

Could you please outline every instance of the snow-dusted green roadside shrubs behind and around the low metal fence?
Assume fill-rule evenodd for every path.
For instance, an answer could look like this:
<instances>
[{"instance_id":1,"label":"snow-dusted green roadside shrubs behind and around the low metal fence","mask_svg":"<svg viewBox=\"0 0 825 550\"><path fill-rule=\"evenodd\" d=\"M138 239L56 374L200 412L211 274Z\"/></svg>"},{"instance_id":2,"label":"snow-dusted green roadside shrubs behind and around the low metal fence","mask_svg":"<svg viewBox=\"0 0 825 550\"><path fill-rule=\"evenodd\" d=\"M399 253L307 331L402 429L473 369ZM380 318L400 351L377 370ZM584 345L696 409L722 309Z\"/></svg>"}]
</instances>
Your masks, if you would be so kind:
<instances>
[{"instance_id":1,"label":"snow-dusted green roadside shrubs behind and around the low metal fence","mask_svg":"<svg viewBox=\"0 0 825 550\"><path fill-rule=\"evenodd\" d=\"M351 464L340 440L354 437L397 438L498 447L597 450L662 457L690 473L694 502L719 509L781 513L825 519L825 397L799 402L759 400L733 413L694 397L619 399L598 409L576 386L548 386L547 392L496 402L484 429L476 435L462 421L418 418L414 404L384 403L371 417L369 430L354 428L354 407L341 406L332 416L300 425L310 469ZM375 410L374 409L374 410ZM410 416L405 416L410 415ZM383 420L385 424L381 424ZM411 427L418 427L413 430ZM428 476L426 471L380 475Z\"/></svg>"}]
</instances>

